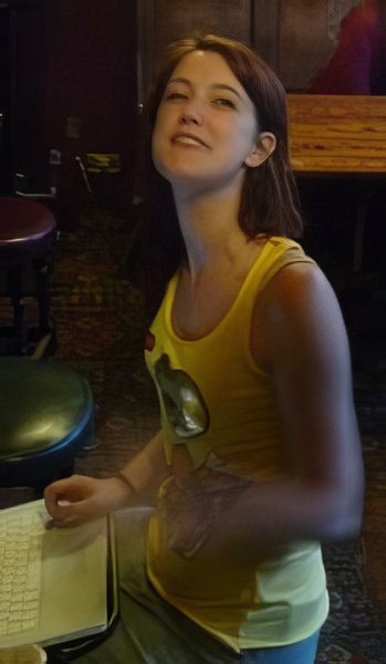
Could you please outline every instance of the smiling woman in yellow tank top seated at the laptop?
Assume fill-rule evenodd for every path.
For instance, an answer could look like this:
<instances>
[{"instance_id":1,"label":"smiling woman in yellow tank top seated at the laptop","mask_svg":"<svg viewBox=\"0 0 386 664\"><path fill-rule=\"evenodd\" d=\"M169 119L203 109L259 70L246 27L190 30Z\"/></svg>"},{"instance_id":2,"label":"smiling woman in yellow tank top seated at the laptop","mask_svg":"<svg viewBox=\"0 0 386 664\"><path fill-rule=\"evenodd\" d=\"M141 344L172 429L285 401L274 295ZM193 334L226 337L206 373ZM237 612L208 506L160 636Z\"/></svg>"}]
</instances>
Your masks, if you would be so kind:
<instances>
[{"instance_id":1,"label":"smiling woman in yellow tank top seated at the laptop","mask_svg":"<svg viewBox=\"0 0 386 664\"><path fill-rule=\"evenodd\" d=\"M149 113L184 240L146 339L161 429L117 476L51 485L46 506L66 527L157 494L136 623L156 614L154 632L138 646L126 626L116 661L310 664L320 542L357 535L364 479L340 308L289 239L285 93L242 44L194 37L166 50Z\"/></svg>"}]
</instances>

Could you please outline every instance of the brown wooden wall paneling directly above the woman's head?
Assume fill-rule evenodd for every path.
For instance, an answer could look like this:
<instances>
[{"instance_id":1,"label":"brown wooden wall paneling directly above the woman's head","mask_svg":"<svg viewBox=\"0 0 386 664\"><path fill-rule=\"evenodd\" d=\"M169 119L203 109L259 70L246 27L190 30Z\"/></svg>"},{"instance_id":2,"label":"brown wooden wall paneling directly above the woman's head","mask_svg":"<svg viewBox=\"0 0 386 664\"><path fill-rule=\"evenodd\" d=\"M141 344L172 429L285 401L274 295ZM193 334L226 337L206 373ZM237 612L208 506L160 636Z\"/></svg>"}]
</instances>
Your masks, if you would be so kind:
<instances>
[{"instance_id":1,"label":"brown wooden wall paneling directly above the woman's head","mask_svg":"<svg viewBox=\"0 0 386 664\"><path fill-rule=\"evenodd\" d=\"M290 91L307 90L362 0L138 0L140 98L160 51L195 29L251 44Z\"/></svg>"}]
</instances>

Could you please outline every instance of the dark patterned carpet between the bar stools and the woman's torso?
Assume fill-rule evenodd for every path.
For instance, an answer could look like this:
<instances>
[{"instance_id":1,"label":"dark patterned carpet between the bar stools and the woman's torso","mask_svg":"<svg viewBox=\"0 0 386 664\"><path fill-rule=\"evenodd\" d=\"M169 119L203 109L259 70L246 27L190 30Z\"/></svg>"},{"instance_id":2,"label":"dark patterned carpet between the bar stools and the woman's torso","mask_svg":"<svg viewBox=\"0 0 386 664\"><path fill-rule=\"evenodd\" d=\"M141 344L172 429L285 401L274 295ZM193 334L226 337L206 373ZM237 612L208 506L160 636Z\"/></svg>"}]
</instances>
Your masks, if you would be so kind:
<instances>
[{"instance_id":1,"label":"dark patterned carpet between the bar stools and the woman's torso","mask_svg":"<svg viewBox=\"0 0 386 664\"><path fill-rule=\"evenodd\" d=\"M97 405L96 447L76 470L98 477L119 468L159 424L143 360L142 297L122 277L132 230L97 210L81 218L76 234L62 234L55 259L55 359L88 377Z\"/></svg>"}]
</instances>

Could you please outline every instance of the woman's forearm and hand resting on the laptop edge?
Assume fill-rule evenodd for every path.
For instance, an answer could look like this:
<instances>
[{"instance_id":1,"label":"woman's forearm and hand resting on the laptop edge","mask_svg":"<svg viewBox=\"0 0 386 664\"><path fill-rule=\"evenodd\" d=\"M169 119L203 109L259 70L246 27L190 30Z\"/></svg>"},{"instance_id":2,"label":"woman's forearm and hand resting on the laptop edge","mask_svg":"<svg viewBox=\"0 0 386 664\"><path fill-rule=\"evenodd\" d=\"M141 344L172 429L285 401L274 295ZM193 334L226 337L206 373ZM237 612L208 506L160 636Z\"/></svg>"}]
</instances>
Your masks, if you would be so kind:
<instances>
[{"instance_id":1,"label":"woman's forearm and hand resting on the laptop edge","mask_svg":"<svg viewBox=\"0 0 386 664\"><path fill-rule=\"evenodd\" d=\"M96 479L73 475L51 484L44 491L45 506L54 526L79 526L131 505L138 496L155 496L168 476L164 434L158 432L113 477Z\"/></svg>"}]
</instances>

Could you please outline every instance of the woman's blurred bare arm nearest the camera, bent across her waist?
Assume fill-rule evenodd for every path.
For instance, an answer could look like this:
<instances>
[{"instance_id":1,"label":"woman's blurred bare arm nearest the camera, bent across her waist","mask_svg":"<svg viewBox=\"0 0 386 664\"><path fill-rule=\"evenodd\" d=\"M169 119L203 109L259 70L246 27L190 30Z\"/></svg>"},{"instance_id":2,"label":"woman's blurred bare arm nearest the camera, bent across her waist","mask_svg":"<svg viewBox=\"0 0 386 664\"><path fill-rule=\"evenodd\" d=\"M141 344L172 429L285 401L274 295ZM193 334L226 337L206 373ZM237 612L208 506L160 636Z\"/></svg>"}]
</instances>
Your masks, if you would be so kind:
<instances>
[{"instance_id":1,"label":"woman's blurred bare arm nearest the camera, bent across her waist","mask_svg":"<svg viewBox=\"0 0 386 664\"><path fill-rule=\"evenodd\" d=\"M272 279L255 304L251 350L272 375L290 475L240 494L219 516L213 543L253 554L355 537L364 468L350 350L335 294L315 266L292 264Z\"/></svg>"}]
</instances>

